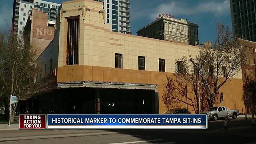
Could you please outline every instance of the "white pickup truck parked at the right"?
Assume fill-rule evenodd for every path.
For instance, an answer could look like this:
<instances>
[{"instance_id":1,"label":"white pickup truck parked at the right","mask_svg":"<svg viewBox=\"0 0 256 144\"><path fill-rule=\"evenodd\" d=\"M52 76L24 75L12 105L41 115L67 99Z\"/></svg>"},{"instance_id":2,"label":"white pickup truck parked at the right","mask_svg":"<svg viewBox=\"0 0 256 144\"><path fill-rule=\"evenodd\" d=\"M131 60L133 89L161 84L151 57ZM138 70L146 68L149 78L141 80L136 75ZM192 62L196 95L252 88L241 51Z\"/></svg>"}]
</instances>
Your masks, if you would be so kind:
<instances>
[{"instance_id":1,"label":"white pickup truck parked at the right","mask_svg":"<svg viewBox=\"0 0 256 144\"><path fill-rule=\"evenodd\" d=\"M208 114L210 119L218 120L218 118L225 118L226 116L236 119L239 115L239 110L227 109L225 106L211 107L207 111L201 112L201 114Z\"/></svg>"}]
</instances>

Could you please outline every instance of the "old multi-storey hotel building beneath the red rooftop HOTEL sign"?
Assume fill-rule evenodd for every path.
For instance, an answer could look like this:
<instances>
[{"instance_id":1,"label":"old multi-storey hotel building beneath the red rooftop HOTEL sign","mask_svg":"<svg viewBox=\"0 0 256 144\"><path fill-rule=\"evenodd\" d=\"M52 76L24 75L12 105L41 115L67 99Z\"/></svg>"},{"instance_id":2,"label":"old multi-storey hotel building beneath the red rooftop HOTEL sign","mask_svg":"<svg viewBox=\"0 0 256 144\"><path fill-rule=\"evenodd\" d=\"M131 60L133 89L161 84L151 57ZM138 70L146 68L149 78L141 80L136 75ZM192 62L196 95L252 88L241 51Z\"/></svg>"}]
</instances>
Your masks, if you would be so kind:
<instances>
[{"instance_id":1,"label":"old multi-storey hotel building beneath the red rooftop HOTEL sign","mask_svg":"<svg viewBox=\"0 0 256 144\"><path fill-rule=\"evenodd\" d=\"M198 44L198 25L185 19L175 19L167 14L140 28L138 36L156 38L182 44Z\"/></svg>"}]
</instances>

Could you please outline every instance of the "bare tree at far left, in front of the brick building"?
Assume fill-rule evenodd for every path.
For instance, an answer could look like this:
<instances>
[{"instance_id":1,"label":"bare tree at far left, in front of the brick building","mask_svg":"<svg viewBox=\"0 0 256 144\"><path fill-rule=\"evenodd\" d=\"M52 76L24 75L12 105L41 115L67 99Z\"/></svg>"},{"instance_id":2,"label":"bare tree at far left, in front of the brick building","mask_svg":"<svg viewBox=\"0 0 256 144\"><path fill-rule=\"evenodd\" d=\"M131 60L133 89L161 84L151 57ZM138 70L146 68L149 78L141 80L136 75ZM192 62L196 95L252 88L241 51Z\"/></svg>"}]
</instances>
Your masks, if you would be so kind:
<instances>
[{"instance_id":1,"label":"bare tree at far left, in front of the brick building","mask_svg":"<svg viewBox=\"0 0 256 144\"><path fill-rule=\"evenodd\" d=\"M9 105L10 95L17 96L18 103L20 99L56 87L56 80L52 77L34 80L41 67L36 63L37 56L38 49L30 44L29 37L15 37L4 32L0 34L0 98L4 96L5 104ZM16 110L16 105L13 109Z\"/></svg>"}]
</instances>

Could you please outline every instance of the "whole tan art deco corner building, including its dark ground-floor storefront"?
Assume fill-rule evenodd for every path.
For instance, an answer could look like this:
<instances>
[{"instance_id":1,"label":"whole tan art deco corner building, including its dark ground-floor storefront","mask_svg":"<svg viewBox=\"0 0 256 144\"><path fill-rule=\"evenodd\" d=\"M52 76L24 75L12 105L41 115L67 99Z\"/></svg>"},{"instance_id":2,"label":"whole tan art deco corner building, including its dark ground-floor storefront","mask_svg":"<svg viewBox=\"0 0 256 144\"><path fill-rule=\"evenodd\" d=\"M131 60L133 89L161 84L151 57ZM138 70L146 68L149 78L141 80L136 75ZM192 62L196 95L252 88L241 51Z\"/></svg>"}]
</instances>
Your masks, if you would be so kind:
<instances>
[{"instance_id":1,"label":"whole tan art deco corner building, including its dark ground-floor storefront","mask_svg":"<svg viewBox=\"0 0 256 144\"><path fill-rule=\"evenodd\" d=\"M58 89L43 95L39 113L158 114L166 111L162 93L176 60L198 55L200 48L111 32L102 3L63 2L54 39L38 58L42 78L57 69ZM221 89L222 105L242 111L242 74ZM192 92L190 92L191 94ZM46 99L50 101L46 101ZM182 106L186 107L186 106ZM192 108L189 107L192 111Z\"/></svg>"}]
</instances>

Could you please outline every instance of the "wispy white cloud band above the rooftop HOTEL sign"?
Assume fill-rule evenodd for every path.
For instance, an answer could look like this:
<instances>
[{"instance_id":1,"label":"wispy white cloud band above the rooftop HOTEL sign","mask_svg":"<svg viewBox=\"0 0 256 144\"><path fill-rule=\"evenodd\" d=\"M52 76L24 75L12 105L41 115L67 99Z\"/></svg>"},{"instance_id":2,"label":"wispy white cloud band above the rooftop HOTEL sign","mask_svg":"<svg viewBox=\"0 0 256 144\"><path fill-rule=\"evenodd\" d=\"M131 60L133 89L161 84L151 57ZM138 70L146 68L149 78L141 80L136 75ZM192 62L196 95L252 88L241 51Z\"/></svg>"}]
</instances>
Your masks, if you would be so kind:
<instances>
[{"instance_id":1,"label":"wispy white cloud band above the rooftop HOTEL sign","mask_svg":"<svg viewBox=\"0 0 256 144\"><path fill-rule=\"evenodd\" d=\"M149 18L152 20L156 19L158 14L170 13L172 15L187 15L191 16L198 13L212 13L214 17L227 16L230 14L230 4L229 0L224 0L221 2L214 2L207 0L206 2L201 2L196 6L189 6L188 4L179 1L171 1L169 3L164 3L156 6L155 8L150 8L150 10L142 10L140 12L134 12L136 18L141 18L145 13L149 13ZM145 12L146 11L146 12ZM145 15L144 15L145 16Z\"/></svg>"}]
</instances>

